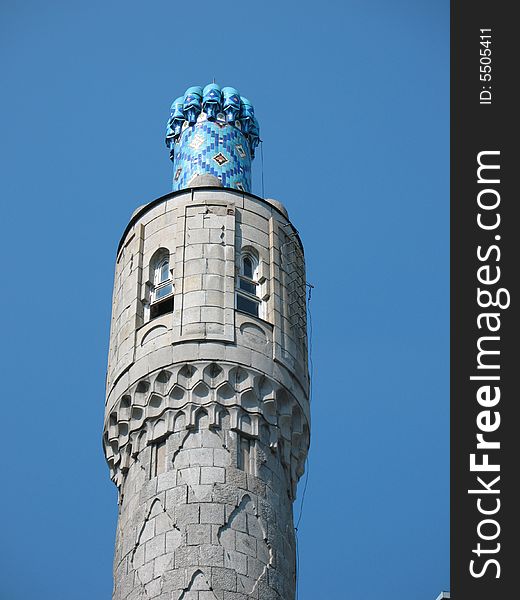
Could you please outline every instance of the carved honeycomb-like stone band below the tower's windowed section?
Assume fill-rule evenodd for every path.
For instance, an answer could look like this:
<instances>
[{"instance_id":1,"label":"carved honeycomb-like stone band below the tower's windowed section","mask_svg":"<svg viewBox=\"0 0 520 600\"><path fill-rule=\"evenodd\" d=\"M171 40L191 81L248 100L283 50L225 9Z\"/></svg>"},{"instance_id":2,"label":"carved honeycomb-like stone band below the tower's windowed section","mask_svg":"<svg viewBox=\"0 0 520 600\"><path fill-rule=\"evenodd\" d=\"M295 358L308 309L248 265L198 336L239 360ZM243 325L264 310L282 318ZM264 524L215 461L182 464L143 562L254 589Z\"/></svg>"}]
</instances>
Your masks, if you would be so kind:
<instances>
[{"instance_id":1,"label":"carved honeycomb-like stone band below the tower's windowed section","mask_svg":"<svg viewBox=\"0 0 520 600\"><path fill-rule=\"evenodd\" d=\"M158 370L136 382L114 405L103 435L110 476L120 488L137 454L164 439L182 415L187 430L205 410L209 426L220 427L227 411L231 429L259 438L267 428L269 446L280 455L294 499L309 448L309 425L296 399L254 369L234 364L196 362Z\"/></svg>"}]
</instances>

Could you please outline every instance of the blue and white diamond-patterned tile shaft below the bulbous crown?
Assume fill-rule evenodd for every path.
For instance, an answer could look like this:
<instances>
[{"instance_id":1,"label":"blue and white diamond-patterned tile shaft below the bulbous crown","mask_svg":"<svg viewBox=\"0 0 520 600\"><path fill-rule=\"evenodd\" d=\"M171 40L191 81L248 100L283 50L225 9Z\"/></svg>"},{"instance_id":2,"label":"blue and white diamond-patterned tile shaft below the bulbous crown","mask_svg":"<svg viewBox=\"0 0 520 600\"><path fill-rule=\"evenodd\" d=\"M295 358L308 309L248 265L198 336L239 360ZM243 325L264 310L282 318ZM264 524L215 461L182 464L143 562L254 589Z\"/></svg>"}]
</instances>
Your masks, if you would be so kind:
<instances>
[{"instance_id":1,"label":"blue and white diamond-patterned tile shaft below the bulbous crown","mask_svg":"<svg viewBox=\"0 0 520 600\"><path fill-rule=\"evenodd\" d=\"M189 187L195 175L215 175L227 188L251 191L251 152L231 123L208 121L201 113L173 145L173 190Z\"/></svg>"}]
</instances>

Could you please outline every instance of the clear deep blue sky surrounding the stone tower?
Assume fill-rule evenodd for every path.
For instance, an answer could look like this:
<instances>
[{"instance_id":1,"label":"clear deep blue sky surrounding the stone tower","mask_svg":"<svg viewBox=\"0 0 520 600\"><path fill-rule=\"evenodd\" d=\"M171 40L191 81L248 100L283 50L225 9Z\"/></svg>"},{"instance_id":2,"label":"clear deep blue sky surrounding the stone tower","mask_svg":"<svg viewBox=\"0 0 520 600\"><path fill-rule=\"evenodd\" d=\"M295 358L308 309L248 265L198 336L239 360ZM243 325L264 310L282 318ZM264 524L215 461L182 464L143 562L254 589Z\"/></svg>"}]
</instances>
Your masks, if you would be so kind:
<instances>
[{"instance_id":1,"label":"clear deep blue sky surrounding the stone tower","mask_svg":"<svg viewBox=\"0 0 520 600\"><path fill-rule=\"evenodd\" d=\"M170 102L213 77L255 104L265 193L315 285L299 600L434 600L449 585L448 1L3 0L0 46L1 600L110 600L115 250L170 189Z\"/></svg>"}]
</instances>

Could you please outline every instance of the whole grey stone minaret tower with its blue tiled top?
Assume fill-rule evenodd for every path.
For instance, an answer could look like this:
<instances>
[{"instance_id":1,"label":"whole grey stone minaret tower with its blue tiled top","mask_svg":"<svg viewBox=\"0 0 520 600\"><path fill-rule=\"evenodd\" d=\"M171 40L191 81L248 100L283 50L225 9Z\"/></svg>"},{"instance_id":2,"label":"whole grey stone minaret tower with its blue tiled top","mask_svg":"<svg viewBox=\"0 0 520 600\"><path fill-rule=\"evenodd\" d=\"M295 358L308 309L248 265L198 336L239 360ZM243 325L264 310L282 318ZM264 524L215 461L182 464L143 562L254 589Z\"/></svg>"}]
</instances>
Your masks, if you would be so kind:
<instances>
[{"instance_id":1,"label":"whole grey stone minaret tower with its blue tiled top","mask_svg":"<svg viewBox=\"0 0 520 600\"><path fill-rule=\"evenodd\" d=\"M259 142L233 88L189 88L173 192L117 252L103 443L119 490L114 600L293 600L309 446L303 248L250 191Z\"/></svg>"}]
</instances>

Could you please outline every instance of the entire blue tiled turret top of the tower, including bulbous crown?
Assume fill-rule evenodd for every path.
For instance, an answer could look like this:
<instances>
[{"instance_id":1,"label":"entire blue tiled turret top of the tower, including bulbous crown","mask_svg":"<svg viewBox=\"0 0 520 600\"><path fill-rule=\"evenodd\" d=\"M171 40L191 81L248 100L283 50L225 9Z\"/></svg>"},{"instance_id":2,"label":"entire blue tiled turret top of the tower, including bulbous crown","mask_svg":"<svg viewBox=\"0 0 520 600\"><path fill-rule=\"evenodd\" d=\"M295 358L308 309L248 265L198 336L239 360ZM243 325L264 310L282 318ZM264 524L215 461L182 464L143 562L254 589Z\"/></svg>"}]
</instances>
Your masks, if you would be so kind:
<instances>
[{"instance_id":1,"label":"entire blue tiled turret top of the tower, including bulbous crown","mask_svg":"<svg viewBox=\"0 0 520 600\"><path fill-rule=\"evenodd\" d=\"M235 88L216 83L188 88L171 107L166 145L173 161L173 190L197 175L224 187L251 191L251 160L260 142L254 108Z\"/></svg>"}]
</instances>

